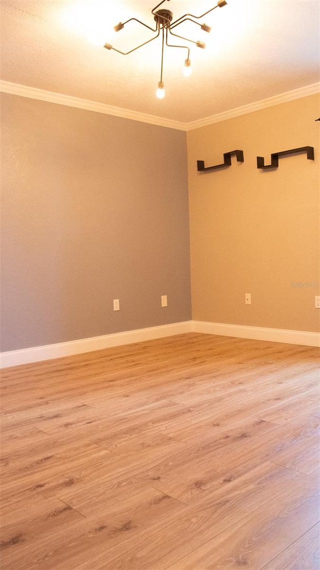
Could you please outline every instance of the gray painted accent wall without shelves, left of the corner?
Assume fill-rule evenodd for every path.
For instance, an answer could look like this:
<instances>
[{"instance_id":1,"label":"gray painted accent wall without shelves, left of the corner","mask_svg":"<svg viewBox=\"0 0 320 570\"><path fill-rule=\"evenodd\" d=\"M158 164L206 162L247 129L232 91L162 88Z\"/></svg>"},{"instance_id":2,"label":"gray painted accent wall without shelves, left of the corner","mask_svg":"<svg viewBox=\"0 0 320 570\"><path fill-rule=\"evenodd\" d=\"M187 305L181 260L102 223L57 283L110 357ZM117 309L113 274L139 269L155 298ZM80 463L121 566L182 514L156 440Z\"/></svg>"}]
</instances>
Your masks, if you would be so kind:
<instances>
[{"instance_id":1,"label":"gray painted accent wall without shelves, left of the corner","mask_svg":"<svg viewBox=\"0 0 320 570\"><path fill-rule=\"evenodd\" d=\"M2 126L2 351L190 320L186 133L8 94Z\"/></svg>"}]
</instances>

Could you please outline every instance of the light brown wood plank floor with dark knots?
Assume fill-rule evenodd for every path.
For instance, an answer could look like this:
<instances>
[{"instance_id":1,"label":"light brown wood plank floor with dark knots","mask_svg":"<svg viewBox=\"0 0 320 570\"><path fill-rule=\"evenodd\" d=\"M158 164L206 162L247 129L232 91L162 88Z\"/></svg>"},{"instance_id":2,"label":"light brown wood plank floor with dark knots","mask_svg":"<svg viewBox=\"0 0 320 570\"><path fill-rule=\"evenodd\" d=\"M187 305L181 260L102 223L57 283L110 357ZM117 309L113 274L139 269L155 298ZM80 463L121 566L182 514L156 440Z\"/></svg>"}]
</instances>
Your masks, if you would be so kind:
<instances>
[{"instance_id":1,"label":"light brown wood plank floor with dark knots","mask_svg":"<svg viewBox=\"0 0 320 570\"><path fill-rule=\"evenodd\" d=\"M318 349L186 334L2 372L2 568L319 570Z\"/></svg>"}]
</instances>

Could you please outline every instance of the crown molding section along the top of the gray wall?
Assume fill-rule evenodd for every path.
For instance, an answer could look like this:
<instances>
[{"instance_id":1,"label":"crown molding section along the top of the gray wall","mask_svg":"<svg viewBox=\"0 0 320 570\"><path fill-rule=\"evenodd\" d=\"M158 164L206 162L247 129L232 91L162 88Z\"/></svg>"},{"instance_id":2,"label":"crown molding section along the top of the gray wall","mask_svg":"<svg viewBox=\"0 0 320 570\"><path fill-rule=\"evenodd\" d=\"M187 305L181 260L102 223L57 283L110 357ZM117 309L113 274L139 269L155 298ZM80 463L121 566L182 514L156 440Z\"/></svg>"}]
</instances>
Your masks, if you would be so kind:
<instances>
[{"instance_id":1,"label":"crown molding section along the top of the gray wall","mask_svg":"<svg viewBox=\"0 0 320 570\"><path fill-rule=\"evenodd\" d=\"M3 93L10 93L11 95L19 95L20 97L28 97L29 99L39 99L40 101L47 101L48 103L67 105L67 107L86 109L87 111L94 111L95 113L104 113L104 115L122 117L122 119L140 121L140 123L149 123L151 125L159 125L160 127L178 129L178 131L186 130L185 123L180 123L179 121L172 121L170 119L164 119L163 117L157 117L154 115L146 115L145 113L137 113L136 111L122 109L121 107L113 107L112 105L98 103L97 101L89 101L87 99L80 99L79 97L72 97L71 95L63 95L63 93L44 91L44 89L28 87L26 85L20 85L19 83L0 80L0 91Z\"/></svg>"}]
</instances>

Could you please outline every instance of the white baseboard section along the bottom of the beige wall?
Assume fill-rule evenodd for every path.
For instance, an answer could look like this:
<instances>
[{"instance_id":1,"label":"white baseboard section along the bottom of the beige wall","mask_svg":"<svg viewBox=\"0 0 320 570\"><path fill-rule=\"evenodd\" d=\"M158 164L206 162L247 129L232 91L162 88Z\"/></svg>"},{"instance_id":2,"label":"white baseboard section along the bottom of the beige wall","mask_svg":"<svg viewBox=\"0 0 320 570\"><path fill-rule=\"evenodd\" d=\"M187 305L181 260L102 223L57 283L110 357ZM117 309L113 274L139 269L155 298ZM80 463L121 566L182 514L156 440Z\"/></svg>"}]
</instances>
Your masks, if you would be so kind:
<instances>
[{"instance_id":1,"label":"white baseboard section along the bottom of the beige wall","mask_svg":"<svg viewBox=\"0 0 320 570\"><path fill-rule=\"evenodd\" d=\"M281 328L247 327L239 324L207 323L192 321L193 332L208 335L235 336L240 339L267 340L272 343L301 344L307 347L320 347L320 333L289 331Z\"/></svg>"}]
</instances>

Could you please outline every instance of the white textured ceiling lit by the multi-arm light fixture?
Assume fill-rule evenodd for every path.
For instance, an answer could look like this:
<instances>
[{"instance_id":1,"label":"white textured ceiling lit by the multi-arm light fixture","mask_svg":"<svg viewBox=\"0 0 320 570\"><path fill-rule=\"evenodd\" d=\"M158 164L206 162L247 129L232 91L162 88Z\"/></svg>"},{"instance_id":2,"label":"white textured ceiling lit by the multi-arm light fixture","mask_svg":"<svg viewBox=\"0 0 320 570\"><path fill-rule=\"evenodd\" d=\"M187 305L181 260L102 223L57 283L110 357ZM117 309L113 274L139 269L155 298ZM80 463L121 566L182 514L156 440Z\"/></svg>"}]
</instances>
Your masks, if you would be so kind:
<instances>
[{"instance_id":1,"label":"white textured ceiling lit by the multi-arm light fixture","mask_svg":"<svg viewBox=\"0 0 320 570\"><path fill-rule=\"evenodd\" d=\"M190 78L182 76L186 50L166 49L166 97L158 100L159 38L126 56L101 47L108 41L125 51L148 39L152 33L137 23L117 34L113 26L130 17L153 26L155 3L1 0L2 79L183 123L319 81L319 0L228 0L203 18L211 34L189 23L175 30L207 47L189 44ZM161 9L177 19L215 4L166 0Z\"/></svg>"}]
</instances>

